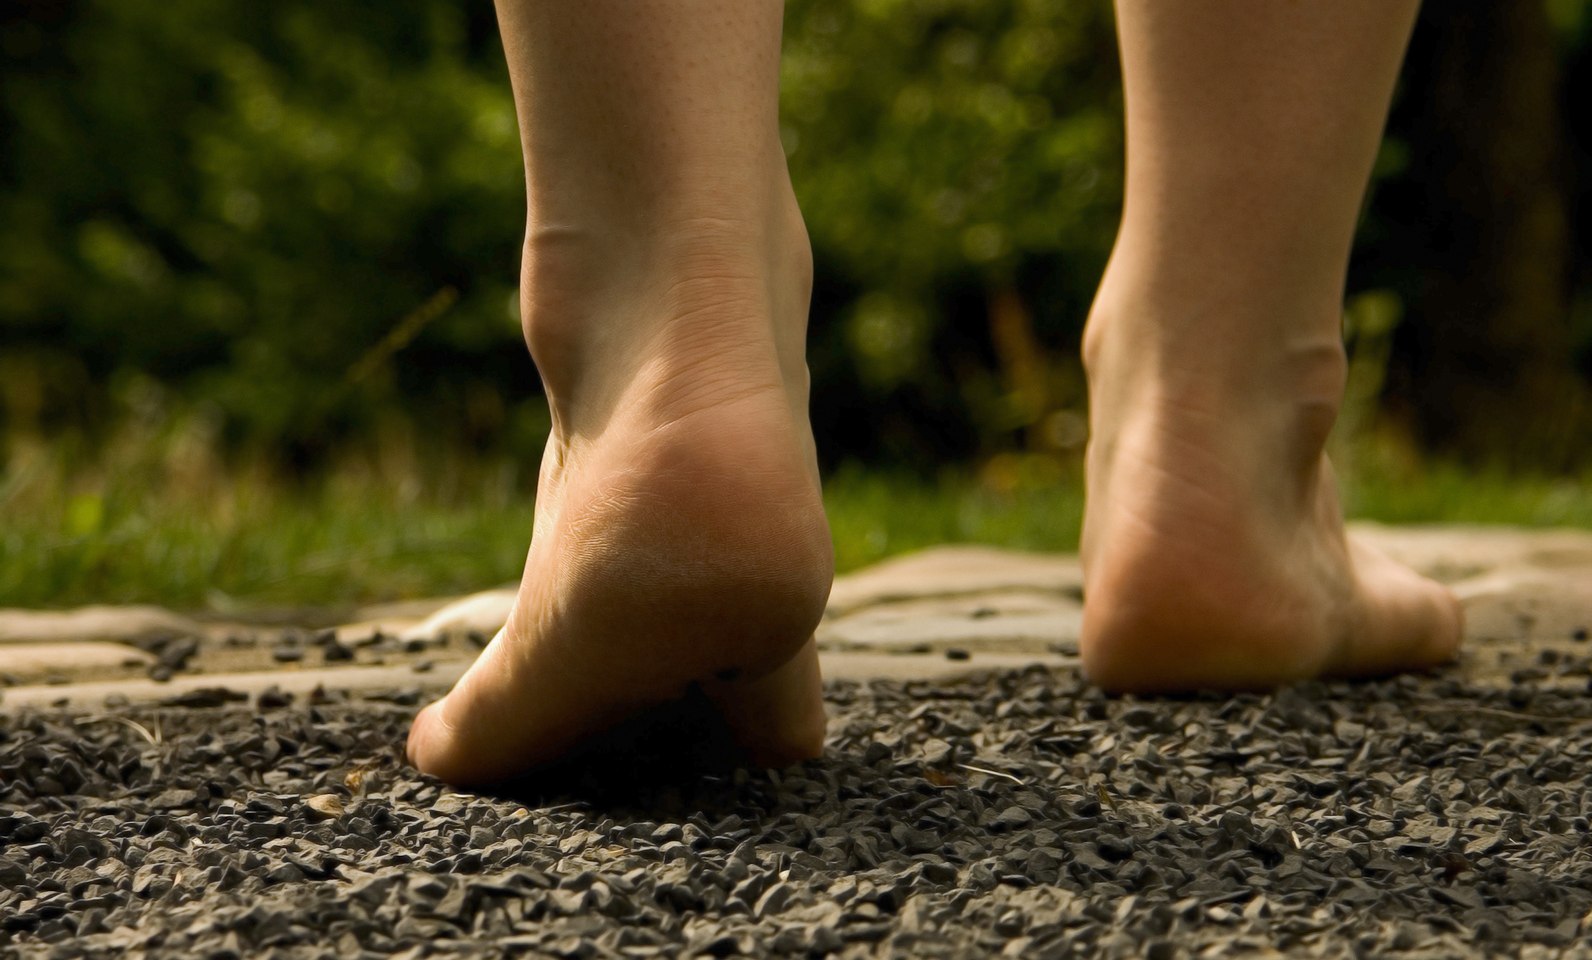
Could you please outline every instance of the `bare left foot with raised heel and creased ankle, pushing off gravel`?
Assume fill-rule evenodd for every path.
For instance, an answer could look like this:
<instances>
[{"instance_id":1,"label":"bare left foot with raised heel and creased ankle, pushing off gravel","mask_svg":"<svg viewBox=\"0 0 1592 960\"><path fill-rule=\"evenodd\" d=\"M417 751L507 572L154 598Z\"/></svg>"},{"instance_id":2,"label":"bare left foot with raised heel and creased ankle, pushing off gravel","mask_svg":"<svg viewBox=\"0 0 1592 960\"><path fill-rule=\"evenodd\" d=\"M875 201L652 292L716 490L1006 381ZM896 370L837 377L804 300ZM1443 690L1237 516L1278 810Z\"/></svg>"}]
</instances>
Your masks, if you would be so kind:
<instances>
[{"instance_id":1,"label":"bare left foot with raised heel and creased ankle, pushing off gravel","mask_svg":"<svg viewBox=\"0 0 1592 960\"><path fill-rule=\"evenodd\" d=\"M802 358L810 253L681 223L527 244L527 342L552 408L508 624L409 734L452 783L560 759L704 693L753 763L823 745L814 627L833 578Z\"/></svg>"}]
</instances>

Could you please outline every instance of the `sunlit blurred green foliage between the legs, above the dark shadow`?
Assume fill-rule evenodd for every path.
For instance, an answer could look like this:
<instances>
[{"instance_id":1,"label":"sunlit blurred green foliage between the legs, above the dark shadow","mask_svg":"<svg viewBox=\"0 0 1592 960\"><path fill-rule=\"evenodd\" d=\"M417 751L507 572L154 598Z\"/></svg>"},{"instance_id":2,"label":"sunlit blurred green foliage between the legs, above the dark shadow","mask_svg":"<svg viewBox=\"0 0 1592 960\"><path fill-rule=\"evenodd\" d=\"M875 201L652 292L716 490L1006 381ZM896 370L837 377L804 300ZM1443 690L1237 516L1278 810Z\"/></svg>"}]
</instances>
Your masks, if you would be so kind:
<instances>
[{"instance_id":1,"label":"sunlit blurred green foliage between the legs, above the dark shadow","mask_svg":"<svg viewBox=\"0 0 1592 960\"><path fill-rule=\"evenodd\" d=\"M906 299L1036 258L1092 287L1121 202L1116 84L1100 3L793 5L783 132L814 244ZM855 334L884 365L912 339Z\"/></svg>"}]
</instances>

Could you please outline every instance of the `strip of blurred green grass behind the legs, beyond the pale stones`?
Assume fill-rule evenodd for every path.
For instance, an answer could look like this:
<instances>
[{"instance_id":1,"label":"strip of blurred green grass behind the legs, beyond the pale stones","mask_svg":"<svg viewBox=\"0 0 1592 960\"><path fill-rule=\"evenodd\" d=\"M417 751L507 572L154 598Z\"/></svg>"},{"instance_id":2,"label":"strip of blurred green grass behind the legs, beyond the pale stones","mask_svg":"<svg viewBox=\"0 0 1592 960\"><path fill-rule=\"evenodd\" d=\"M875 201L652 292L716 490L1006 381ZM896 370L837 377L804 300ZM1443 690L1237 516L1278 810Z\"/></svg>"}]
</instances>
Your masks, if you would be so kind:
<instances>
[{"instance_id":1,"label":"strip of blurred green grass behind the legs, beyond the pale stones","mask_svg":"<svg viewBox=\"0 0 1592 960\"><path fill-rule=\"evenodd\" d=\"M1371 447L1348 460L1345 500L1356 517L1592 529L1592 476L1476 474ZM482 466L427 482L416 474L374 463L296 486L169 457L116 470L13 457L0 473L0 607L146 602L224 613L517 580L532 529L524 478ZM1075 466L998 457L933 478L844 470L825 497L844 572L936 543L1075 549L1083 484Z\"/></svg>"}]
</instances>

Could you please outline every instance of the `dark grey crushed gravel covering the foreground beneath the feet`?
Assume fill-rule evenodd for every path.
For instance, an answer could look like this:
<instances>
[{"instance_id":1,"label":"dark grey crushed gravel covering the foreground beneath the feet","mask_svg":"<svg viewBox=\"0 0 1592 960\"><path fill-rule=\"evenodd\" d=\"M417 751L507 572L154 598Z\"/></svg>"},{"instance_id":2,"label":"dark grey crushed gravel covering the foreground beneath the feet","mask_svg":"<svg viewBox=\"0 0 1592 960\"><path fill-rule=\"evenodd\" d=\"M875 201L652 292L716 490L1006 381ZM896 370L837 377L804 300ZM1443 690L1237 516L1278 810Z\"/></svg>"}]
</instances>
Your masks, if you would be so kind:
<instances>
[{"instance_id":1,"label":"dark grey crushed gravel covering the foreground beneath the feet","mask_svg":"<svg viewBox=\"0 0 1592 960\"><path fill-rule=\"evenodd\" d=\"M839 683L821 761L506 799L400 763L417 691L25 710L0 955L1592 955L1589 673Z\"/></svg>"}]
</instances>

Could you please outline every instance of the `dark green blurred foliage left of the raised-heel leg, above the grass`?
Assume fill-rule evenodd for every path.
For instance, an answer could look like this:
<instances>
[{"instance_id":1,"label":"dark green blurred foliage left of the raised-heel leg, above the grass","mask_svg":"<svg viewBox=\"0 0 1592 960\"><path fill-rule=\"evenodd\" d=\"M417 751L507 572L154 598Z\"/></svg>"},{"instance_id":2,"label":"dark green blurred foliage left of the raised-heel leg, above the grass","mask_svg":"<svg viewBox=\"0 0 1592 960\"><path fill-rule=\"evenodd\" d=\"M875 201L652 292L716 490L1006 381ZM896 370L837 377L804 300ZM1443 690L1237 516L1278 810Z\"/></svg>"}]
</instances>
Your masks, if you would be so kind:
<instances>
[{"instance_id":1,"label":"dark green blurred foliage left of the raised-heel leg, above the grass","mask_svg":"<svg viewBox=\"0 0 1592 960\"><path fill-rule=\"evenodd\" d=\"M234 439L309 459L377 409L435 411L471 441L471 395L508 396L479 435L535 395L513 347L524 193L490 8L46 6L3 40L6 353L67 355L100 393L153 376ZM412 331L423 349L353 382L447 290L457 304Z\"/></svg>"}]
</instances>

